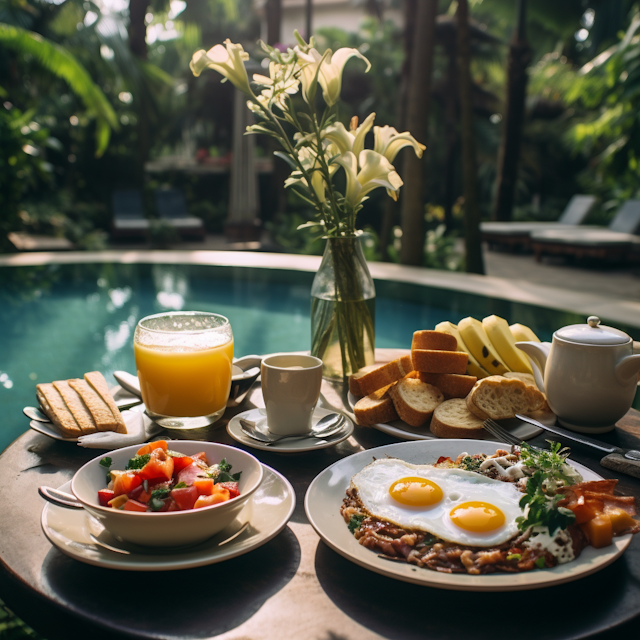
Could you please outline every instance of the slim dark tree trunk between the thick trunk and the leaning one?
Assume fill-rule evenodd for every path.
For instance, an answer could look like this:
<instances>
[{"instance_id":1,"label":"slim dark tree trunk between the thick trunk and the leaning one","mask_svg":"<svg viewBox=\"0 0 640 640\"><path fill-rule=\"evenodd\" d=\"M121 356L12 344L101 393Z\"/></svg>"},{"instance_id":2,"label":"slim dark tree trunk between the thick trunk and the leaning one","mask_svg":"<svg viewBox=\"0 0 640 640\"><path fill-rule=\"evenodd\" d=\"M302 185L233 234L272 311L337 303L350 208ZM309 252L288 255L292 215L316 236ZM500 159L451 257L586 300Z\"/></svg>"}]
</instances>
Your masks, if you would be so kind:
<instances>
[{"instance_id":1,"label":"slim dark tree trunk between the thick trunk and the leaning one","mask_svg":"<svg viewBox=\"0 0 640 640\"><path fill-rule=\"evenodd\" d=\"M460 83L460 138L462 141L462 173L464 181L464 235L467 252L467 271L484 274L480 210L478 207L478 175L476 140L473 130L471 103L471 56L469 54L469 5L459 0L456 12L458 23L458 80Z\"/></svg>"}]
</instances>

